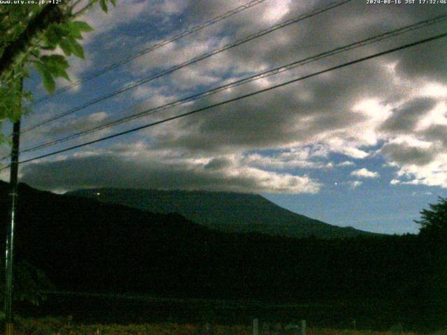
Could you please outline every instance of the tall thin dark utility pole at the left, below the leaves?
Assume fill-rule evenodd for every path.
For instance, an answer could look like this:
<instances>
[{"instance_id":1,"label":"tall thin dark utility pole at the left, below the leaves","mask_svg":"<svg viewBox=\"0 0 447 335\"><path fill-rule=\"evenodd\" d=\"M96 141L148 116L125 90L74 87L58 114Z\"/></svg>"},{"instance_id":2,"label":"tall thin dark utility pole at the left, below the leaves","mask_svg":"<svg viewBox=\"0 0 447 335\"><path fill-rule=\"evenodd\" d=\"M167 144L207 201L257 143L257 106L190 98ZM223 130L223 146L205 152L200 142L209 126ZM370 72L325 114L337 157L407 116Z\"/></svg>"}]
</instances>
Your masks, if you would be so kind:
<instances>
[{"instance_id":1,"label":"tall thin dark utility pole at the left, below the leaves","mask_svg":"<svg viewBox=\"0 0 447 335\"><path fill-rule=\"evenodd\" d=\"M22 90L22 82L20 90ZM22 105L20 105L22 108ZM22 111L20 111L20 114ZM14 225L17 211L17 172L19 166L19 144L20 144L20 119L13 126L13 147L11 149L10 166L10 213L9 224L6 228L6 251L5 251L5 334L13 335L13 251L14 251Z\"/></svg>"}]
</instances>

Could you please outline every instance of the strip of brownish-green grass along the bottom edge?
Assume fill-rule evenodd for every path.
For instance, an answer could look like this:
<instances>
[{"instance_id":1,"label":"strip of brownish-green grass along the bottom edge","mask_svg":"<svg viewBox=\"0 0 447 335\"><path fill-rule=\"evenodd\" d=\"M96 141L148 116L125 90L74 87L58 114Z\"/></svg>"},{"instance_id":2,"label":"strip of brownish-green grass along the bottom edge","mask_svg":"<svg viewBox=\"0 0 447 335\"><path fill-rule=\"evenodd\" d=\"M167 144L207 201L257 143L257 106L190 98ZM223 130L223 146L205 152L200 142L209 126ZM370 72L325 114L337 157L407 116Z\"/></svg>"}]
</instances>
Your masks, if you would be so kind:
<instances>
[{"instance_id":1,"label":"strip of brownish-green grass along the bottom edge","mask_svg":"<svg viewBox=\"0 0 447 335\"><path fill-rule=\"evenodd\" d=\"M179 325L176 323L145 325L71 325L63 318L18 319L15 327L17 335L251 335L249 325L209 326ZM271 333L275 334L275 333ZM299 334L284 332L283 334ZM308 335L416 335L411 332L373 332L342 329L307 329ZM447 332L431 334L447 335Z\"/></svg>"}]
</instances>

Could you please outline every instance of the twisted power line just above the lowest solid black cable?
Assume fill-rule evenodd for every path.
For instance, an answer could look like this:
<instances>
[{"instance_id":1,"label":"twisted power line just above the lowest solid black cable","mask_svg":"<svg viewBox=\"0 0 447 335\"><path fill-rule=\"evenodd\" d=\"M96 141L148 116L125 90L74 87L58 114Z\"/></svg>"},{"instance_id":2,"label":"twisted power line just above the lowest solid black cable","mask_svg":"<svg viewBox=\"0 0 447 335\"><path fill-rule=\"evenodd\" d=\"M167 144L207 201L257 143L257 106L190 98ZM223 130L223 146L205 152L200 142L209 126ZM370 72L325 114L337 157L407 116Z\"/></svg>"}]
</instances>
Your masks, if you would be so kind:
<instances>
[{"instance_id":1,"label":"twisted power line just above the lowest solid black cable","mask_svg":"<svg viewBox=\"0 0 447 335\"><path fill-rule=\"evenodd\" d=\"M247 83L253 82L255 80L260 80L260 79L265 78L265 77L270 77L272 75L277 75L278 73L283 73L283 72L285 72L287 70L292 70L293 68L297 68L298 66L303 66L305 64L309 64L311 62L317 61L319 59L323 59L325 57L330 57L330 56L333 56L335 54L339 54L341 52L345 52L345 51L348 51L348 50L353 50L353 49L356 49L358 47L362 47L362 46L365 46L365 45L376 43L376 42L379 42L379 41L384 40L386 38L392 38L392 37L398 36L400 34L404 34L404 33L409 32L409 31L414 31L416 29L427 27L427 26L432 25L432 24L437 24L437 23L440 23L440 22L444 22L446 20L447 20L447 15L439 15L437 17L433 17L433 18L428 19L428 20L423 20L423 21L417 22L415 24L410 24L410 25L408 25L406 27L402 27L402 28L399 28L399 29L394 29L393 31L388 31L386 33L383 33L383 34L380 34L380 35L377 35L377 36L373 36L373 37L370 37L370 38L366 38L364 40L360 40L360 41L355 42L355 43L350 43L349 45L344 45L342 47L337 47L334 50L330 50L330 51L327 51L327 52L322 52L320 54L316 54L316 55L314 55L312 57L307 57L305 59L300 59L299 61L294 61L294 62L292 62L290 64L286 64L286 65L283 65L283 66L279 66L277 68L266 70L266 71L264 71L262 73L258 73L256 75L251 75L251 76L245 77L245 78L243 78L241 80L236 80L234 82L230 82L228 84L221 85L219 87L214 87L213 89L209 89L207 91L203 91L203 92L198 93L198 94L193 94L191 96L187 96L186 98L182 98L182 99L179 99L177 101L166 103L165 105L160 105L160 106L151 108L149 110L145 110L143 112L139 112L137 114L133 114L133 115L131 115L129 117L122 117L121 119L117 119L117 120L111 121L111 122L109 122L107 124L103 124L101 126L96 126L94 128L87 129L86 131L81 131L81 132L78 132L78 133L75 133L75 134L72 134L72 135L68 135L66 137L61 137L61 138L59 138L57 140L52 140L52 141L45 142L45 143L42 143L42 144L37 144L34 147L29 147L27 149L23 149L22 151L20 151L20 153L22 154L22 153L26 153L26 152L30 152L30 151L36 151L38 149L43 149L45 147L51 147L51 146L53 146L55 144L60 144L62 142L66 142L68 140L74 140L75 138L78 138L78 137L81 137L81 136L84 136L84 135L88 135L90 133L95 133L96 131L101 131L101 130L103 130L105 128L110 128L112 126L117 126L118 124L123 124L125 122L129 122L129 121L132 121L132 120L135 120L135 119L139 119L141 117L146 117L146 116L148 116L150 114L155 114L157 112L161 112L163 110L167 110L167 109L170 109L172 107L175 107L175 106L178 106L178 105L182 105L182 104L184 104L186 102L197 100L198 98L203 98L205 96L210 96L212 94L217 94L217 93L219 93L221 91L224 91L226 89L237 87L237 86L240 86L242 84L247 84ZM4 158L8 158L8 156L1 158L1 160L3 160Z\"/></svg>"}]
</instances>

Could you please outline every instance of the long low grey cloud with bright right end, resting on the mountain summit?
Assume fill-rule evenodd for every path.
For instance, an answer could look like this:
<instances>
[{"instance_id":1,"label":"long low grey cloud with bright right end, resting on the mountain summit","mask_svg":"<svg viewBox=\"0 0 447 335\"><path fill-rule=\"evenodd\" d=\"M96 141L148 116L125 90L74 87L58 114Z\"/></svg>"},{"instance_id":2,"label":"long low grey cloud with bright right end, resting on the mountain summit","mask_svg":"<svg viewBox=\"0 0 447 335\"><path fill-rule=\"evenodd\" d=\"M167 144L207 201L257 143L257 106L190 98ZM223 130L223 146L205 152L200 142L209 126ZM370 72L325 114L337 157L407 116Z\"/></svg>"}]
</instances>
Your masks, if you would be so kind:
<instances>
[{"instance_id":1,"label":"long low grey cloud with bright right end, resting on the mountain summit","mask_svg":"<svg viewBox=\"0 0 447 335\"><path fill-rule=\"evenodd\" d=\"M306 175L262 170L237 156L186 158L143 144L78 154L25 165L22 181L37 188L161 188L243 193L316 193L321 184Z\"/></svg>"}]
</instances>

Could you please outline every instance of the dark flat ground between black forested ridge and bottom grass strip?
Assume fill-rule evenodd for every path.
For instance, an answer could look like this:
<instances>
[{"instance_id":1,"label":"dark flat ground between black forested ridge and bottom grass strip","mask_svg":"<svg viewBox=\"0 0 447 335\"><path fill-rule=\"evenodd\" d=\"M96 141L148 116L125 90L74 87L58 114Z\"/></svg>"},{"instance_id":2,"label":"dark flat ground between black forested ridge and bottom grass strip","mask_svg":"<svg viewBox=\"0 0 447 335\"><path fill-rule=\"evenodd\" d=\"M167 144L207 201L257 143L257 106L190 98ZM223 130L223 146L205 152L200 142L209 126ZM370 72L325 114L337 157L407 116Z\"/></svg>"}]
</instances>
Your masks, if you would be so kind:
<instances>
[{"instance_id":1,"label":"dark flat ground between black forested ridge and bottom grass strip","mask_svg":"<svg viewBox=\"0 0 447 335\"><path fill-rule=\"evenodd\" d=\"M306 304L268 304L252 301L207 299L159 299L124 295L85 295L78 293L49 294L41 306L17 306L24 317L67 318L78 324L147 324L178 323L203 325L250 325L254 318L275 324L300 323L309 327L332 329L404 329L432 331L427 326L412 325L402 310L383 301L362 301L357 304L332 302ZM410 311L406 311L409 315ZM420 317L420 315L418 315ZM425 328L425 329L424 329Z\"/></svg>"}]
</instances>

